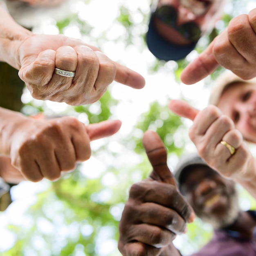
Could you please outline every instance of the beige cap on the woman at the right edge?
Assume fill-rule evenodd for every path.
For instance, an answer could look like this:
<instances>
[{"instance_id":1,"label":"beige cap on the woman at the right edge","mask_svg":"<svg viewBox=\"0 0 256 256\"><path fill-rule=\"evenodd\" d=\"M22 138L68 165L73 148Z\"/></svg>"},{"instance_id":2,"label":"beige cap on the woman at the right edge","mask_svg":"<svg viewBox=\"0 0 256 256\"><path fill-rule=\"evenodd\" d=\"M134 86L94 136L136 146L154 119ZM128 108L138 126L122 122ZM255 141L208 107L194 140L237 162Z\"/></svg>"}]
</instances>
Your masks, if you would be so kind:
<instances>
[{"instance_id":1,"label":"beige cap on the woman at the right edge","mask_svg":"<svg viewBox=\"0 0 256 256\"><path fill-rule=\"evenodd\" d=\"M227 88L229 85L231 85L233 83L237 83L237 82L256 84L256 77L253 79L244 80L244 79L240 78L239 76L235 75L230 70L226 70L220 76L218 76L216 81L213 83L213 86L211 88L211 94L209 97L209 102L208 102L209 105L217 106L217 104L220 100L220 97L221 97L223 91L225 90L225 88Z\"/></svg>"}]
</instances>

